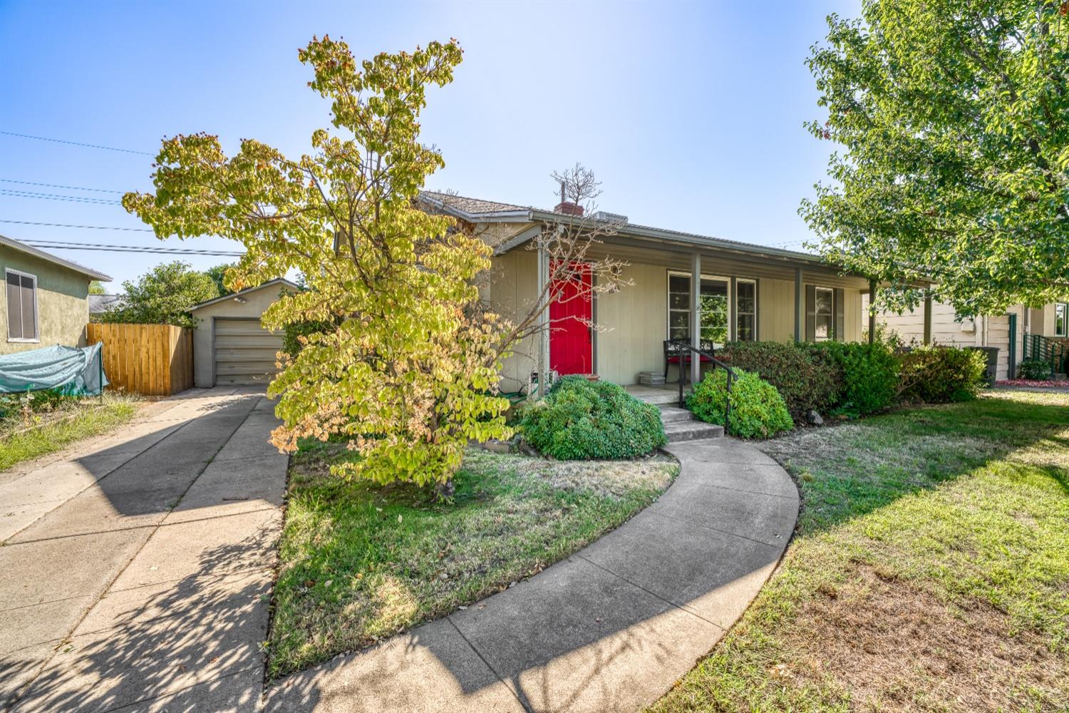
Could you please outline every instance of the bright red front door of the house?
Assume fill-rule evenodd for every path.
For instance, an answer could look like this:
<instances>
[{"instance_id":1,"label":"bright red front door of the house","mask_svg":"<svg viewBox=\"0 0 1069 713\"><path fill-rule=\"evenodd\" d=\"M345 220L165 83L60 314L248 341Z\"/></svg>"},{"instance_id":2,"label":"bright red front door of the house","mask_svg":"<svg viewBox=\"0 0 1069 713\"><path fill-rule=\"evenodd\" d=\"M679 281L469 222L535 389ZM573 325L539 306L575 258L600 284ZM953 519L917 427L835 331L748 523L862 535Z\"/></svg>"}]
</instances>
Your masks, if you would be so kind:
<instances>
[{"instance_id":1,"label":"bright red front door of the house","mask_svg":"<svg viewBox=\"0 0 1069 713\"><path fill-rule=\"evenodd\" d=\"M554 282L549 304L549 368L558 374L593 372L590 266L576 264L572 280Z\"/></svg>"}]
</instances>

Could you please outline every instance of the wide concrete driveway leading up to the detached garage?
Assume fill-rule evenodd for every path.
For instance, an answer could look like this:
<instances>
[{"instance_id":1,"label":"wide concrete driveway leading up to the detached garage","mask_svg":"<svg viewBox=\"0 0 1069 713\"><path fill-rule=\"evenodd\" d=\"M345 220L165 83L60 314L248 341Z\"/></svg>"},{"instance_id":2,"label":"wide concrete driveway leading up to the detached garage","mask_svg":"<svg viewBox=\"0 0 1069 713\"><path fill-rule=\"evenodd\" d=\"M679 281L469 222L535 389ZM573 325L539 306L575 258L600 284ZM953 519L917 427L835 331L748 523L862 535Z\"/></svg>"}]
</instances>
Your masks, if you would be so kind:
<instances>
[{"instance_id":1,"label":"wide concrete driveway leading up to the detached garage","mask_svg":"<svg viewBox=\"0 0 1069 713\"><path fill-rule=\"evenodd\" d=\"M251 710L288 458L260 391L187 391L0 472L0 710Z\"/></svg>"}]
</instances>

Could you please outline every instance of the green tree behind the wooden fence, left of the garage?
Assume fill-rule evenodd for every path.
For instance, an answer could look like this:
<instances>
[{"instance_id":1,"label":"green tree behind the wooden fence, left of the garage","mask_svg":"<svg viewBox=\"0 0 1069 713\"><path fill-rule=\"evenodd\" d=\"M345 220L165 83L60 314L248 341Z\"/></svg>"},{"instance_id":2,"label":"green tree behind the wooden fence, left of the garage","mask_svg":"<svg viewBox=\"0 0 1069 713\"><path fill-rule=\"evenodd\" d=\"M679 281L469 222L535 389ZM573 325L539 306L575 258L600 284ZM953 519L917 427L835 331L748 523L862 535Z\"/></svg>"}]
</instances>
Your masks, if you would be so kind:
<instances>
[{"instance_id":1,"label":"green tree behind the wooden fence, left of the garage","mask_svg":"<svg viewBox=\"0 0 1069 713\"><path fill-rule=\"evenodd\" d=\"M189 310L198 303L219 296L212 278L180 260L161 263L137 282L123 282L123 306L100 315L102 322L173 324L196 326Z\"/></svg>"}]
</instances>

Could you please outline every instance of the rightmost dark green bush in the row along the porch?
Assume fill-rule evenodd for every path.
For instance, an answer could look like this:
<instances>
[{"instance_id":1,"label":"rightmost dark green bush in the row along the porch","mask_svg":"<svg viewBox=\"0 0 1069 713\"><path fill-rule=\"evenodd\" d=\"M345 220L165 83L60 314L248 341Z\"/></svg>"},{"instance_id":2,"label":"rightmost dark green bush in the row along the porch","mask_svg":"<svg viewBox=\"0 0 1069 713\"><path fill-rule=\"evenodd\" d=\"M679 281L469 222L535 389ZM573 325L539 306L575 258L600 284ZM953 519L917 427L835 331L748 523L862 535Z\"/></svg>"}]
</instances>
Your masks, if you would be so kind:
<instances>
[{"instance_id":1,"label":"rightmost dark green bush in the row along the porch","mask_svg":"<svg viewBox=\"0 0 1069 713\"><path fill-rule=\"evenodd\" d=\"M969 401L987 383L987 355L978 350L918 346L898 355L898 361L899 396L907 401Z\"/></svg>"}]
</instances>

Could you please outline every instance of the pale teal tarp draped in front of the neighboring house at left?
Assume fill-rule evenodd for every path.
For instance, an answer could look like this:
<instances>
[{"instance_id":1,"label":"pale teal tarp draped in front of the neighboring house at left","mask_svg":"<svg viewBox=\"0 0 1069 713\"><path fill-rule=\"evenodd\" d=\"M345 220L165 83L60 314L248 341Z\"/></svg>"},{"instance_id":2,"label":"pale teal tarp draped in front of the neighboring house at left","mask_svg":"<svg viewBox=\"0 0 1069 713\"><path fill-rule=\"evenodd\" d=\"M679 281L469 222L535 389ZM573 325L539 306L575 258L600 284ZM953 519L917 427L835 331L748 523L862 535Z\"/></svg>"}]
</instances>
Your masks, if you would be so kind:
<instances>
[{"instance_id":1,"label":"pale teal tarp draped in front of the neighboring house at left","mask_svg":"<svg viewBox=\"0 0 1069 713\"><path fill-rule=\"evenodd\" d=\"M95 396L108 385L102 346L57 344L0 356L0 393L56 389L72 396Z\"/></svg>"}]
</instances>

